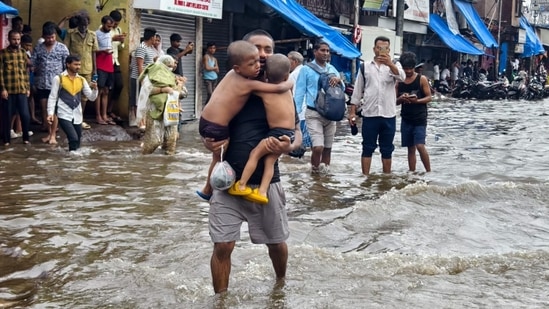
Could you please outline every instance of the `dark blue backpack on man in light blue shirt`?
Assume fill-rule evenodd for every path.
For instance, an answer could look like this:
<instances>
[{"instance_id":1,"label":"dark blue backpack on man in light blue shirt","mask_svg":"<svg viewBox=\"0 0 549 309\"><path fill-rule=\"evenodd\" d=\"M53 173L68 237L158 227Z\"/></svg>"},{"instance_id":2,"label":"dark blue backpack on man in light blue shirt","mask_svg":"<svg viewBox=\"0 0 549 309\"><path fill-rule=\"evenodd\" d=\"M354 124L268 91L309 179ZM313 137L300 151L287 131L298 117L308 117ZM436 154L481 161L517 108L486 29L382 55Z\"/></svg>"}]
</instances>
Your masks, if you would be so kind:
<instances>
[{"instance_id":1,"label":"dark blue backpack on man in light blue shirt","mask_svg":"<svg viewBox=\"0 0 549 309\"><path fill-rule=\"evenodd\" d=\"M331 121L340 121L345 116L345 92L341 87L330 86L330 78L334 73L321 72L316 65L307 63L311 69L317 72L318 94L315 100L316 111L324 118Z\"/></svg>"}]
</instances>

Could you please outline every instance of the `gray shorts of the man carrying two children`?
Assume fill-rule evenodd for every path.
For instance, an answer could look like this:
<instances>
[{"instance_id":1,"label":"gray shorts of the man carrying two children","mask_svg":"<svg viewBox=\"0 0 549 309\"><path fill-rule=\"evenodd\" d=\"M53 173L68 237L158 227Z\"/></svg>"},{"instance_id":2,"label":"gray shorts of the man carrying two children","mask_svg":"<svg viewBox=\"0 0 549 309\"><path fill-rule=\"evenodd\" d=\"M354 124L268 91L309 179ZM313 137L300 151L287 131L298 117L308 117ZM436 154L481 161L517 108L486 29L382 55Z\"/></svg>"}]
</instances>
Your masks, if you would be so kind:
<instances>
[{"instance_id":1,"label":"gray shorts of the man carrying two children","mask_svg":"<svg viewBox=\"0 0 549 309\"><path fill-rule=\"evenodd\" d=\"M254 244L278 244L290 236L286 196L280 182L269 185L269 203L256 204L227 191L214 190L210 199L210 237L214 243L240 240L242 222L248 222Z\"/></svg>"}]
</instances>

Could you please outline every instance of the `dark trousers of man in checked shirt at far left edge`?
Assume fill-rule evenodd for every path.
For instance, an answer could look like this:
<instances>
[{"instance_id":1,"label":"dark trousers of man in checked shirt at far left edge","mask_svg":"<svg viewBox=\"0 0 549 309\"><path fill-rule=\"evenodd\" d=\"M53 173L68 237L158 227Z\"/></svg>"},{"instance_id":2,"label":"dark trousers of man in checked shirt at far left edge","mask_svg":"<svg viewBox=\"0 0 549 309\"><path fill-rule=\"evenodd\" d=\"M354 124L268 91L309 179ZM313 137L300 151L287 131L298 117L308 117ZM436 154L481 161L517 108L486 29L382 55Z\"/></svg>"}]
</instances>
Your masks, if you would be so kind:
<instances>
[{"instance_id":1,"label":"dark trousers of man in checked shirt at far left edge","mask_svg":"<svg viewBox=\"0 0 549 309\"><path fill-rule=\"evenodd\" d=\"M30 112L27 95L24 93L10 94L8 99L2 99L2 140L4 143L11 142L11 118L16 113L21 118L21 127L23 128L23 141L29 141Z\"/></svg>"}]
</instances>

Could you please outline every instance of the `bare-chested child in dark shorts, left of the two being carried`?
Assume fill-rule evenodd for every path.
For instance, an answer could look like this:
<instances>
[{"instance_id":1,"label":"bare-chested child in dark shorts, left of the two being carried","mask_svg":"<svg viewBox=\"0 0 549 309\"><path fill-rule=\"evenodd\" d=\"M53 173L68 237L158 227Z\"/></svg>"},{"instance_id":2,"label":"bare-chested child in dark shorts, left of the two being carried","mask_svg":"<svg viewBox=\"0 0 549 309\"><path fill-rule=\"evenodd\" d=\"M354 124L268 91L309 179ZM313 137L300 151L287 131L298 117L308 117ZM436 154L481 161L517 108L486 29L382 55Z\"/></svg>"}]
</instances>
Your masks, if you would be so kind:
<instances>
[{"instance_id":1,"label":"bare-chested child in dark shorts, left of the two being carried","mask_svg":"<svg viewBox=\"0 0 549 309\"><path fill-rule=\"evenodd\" d=\"M285 93L293 87L293 83L285 81L279 84L265 83L254 80L259 75L259 51L257 47L246 41L235 41L227 48L227 58L231 70L219 82L210 101L204 107L200 117L199 132L204 138L216 141L229 138L229 122L244 107L252 92ZM213 154L208 170L206 185L196 193L209 200L213 189L210 185L210 175L219 155Z\"/></svg>"}]
</instances>

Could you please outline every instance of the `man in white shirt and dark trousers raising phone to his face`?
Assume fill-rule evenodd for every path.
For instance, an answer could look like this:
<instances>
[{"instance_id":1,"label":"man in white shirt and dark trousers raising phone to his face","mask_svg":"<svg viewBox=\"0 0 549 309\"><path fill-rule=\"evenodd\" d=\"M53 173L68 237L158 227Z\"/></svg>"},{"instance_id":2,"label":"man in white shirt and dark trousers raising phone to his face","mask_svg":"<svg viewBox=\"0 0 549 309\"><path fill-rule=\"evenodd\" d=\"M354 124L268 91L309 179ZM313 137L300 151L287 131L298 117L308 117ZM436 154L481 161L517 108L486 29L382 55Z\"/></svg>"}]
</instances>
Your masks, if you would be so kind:
<instances>
[{"instance_id":1,"label":"man in white shirt and dark trousers raising phone to his face","mask_svg":"<svg viewBox=\"0 0 549 309\"><path fill-rule=\"evenodd\" d=\"M391 158L395 146L396 132L396 90L398 81L406 77L399 62L393 63L390 55L390 40L379 36L374 40L372 61L363 64L355 81L349 123L355 124L356 106L361 105L362 154L361 165L364 175L370 174L372 155L379 142L383 172L391 172Z\"/></svg>"}]
</instances>

